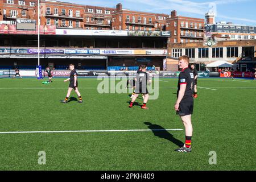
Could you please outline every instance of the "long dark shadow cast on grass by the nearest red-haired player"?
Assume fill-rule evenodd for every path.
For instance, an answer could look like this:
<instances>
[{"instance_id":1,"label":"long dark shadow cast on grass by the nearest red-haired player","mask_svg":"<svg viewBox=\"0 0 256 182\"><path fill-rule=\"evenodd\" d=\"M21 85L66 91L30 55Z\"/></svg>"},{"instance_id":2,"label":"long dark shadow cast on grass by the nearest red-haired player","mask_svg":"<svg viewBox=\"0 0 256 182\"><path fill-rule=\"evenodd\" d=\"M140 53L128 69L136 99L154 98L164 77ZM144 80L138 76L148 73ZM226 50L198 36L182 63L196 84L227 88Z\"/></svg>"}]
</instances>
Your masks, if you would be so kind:
<instances>
[{"instance_id":1,"label":"long dark shadow cast on grass by the nearest red-haired player","mask_svg":"<svg viewBox=\"0 0 256 182\"><path fill-rule=\"evenodd\" d=\"M163 139L167 139L170 142L176 144L176 146L182 147L183 146L183 142L181 142L180 140L174 138L174 135L172 135L171 133L169 133L166 129L164 129L162 126L160 125L154 125L150 122L144 122L145 125L147 125L148 129L152 130L152 132L154 133L154 135L156 137L159 138L163 138ZM158 131L161 130L161 131Z\"/></svg>"}]
</instances>

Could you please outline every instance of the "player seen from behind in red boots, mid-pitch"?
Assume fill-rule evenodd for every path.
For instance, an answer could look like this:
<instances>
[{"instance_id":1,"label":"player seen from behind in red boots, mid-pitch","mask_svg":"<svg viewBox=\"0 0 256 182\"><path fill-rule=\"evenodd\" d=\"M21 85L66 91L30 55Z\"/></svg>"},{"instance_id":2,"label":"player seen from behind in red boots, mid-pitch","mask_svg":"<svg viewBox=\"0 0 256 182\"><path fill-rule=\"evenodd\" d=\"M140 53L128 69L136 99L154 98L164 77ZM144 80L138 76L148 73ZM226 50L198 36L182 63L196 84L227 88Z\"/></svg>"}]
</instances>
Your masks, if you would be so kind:
<instances>
[{"instance_id":1,"label":"player seen from behind in red boots, mid-pitch","mask_svg":"<svg viewBox=\"0 0 256 182\"><path fill-rule=\"evenodd\" d=\"M142 109L148 109L146 107L147 101L148 101L148 90L147 90L147 84L151 84L150 76L146 73L146 65L142 65L142 71L137 72L137 76L135 78L135 94L133 96L133 99L130 102L129 107L133 107L134 101L139 96L139 94L143 94L143 105L141 106Z\"/></svg>"}]
</instances>

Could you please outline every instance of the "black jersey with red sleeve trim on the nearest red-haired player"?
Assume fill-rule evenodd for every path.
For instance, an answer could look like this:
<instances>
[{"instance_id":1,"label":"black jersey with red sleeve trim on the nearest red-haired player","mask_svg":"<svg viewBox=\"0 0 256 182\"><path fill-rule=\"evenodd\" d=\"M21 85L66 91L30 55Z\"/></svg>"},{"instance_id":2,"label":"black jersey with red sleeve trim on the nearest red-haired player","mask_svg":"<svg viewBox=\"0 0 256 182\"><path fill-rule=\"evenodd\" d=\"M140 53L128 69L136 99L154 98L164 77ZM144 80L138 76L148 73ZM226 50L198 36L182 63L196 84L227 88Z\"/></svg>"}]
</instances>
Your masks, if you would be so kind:
<instances>
[{"instance_id":1,"label":"black jersey with red sleeve trim on the nearest red-haired player","mask_svg":"<svg viewBox=\"0 0 256 182\"><path fill-rule=\"evenodd\" d=\"M181 70L180 75L179 75L177 97L179 95L180 85L182 85L182 84L187 85L186 89L185 89L184 96L192 97L194 87L195 87L195 80L194 80L194 75L193 75L191 69L184 68L183 70Z\"/></svg>"}]
</instances>

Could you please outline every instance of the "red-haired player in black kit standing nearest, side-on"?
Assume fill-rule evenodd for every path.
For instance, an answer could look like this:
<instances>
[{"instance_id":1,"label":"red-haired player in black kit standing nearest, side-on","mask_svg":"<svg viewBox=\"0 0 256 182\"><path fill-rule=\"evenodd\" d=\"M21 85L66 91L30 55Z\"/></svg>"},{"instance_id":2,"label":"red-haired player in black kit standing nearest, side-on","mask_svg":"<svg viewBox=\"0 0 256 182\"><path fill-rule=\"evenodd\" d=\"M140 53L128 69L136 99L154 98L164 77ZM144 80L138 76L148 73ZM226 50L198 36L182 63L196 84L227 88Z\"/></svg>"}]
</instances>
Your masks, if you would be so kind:
<instances>
[{"instance_id":1,"label":"red-haired player in black kit standing nearest, side-on","mask_svg":"<svg viewBox=\"0 0 256 182\"><path fill-rule=\"evenodd\" d=\"M188 68L189 57L179 57L179 67L182 69L179 75L177 101L174 106L176 114L180 115L181 121L185 127L185 143L181 148L176 149L177 152L191 152L191 138L193 127L191 123L191 114L193 113L193 90L194 75Z\"/></svg>"}]
</instances>

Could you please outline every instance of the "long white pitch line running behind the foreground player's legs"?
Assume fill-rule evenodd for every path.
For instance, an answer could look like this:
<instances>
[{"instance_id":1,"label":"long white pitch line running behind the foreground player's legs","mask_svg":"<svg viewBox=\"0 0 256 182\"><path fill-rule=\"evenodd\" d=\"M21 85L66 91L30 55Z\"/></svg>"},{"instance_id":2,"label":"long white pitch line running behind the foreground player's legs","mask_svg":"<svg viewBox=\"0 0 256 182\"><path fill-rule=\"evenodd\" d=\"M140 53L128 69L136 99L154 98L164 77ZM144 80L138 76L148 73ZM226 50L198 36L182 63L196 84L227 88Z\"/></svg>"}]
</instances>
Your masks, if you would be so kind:
<instances>
[{"instance_id":1,"label":"long white pitch line running behind the foreground player's legs","mask_svg":"<svg viewBox=\"0 0 256 182\"><path fill-rule=\"evenodd\" d=\"M131 131L182 131L183 129L155 130L74 130L74 131L2 131L0 134L35 134L35 133L93 133L93 132L131 132Z\"/></svg>"}]
</instances>

